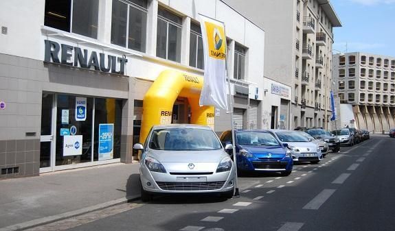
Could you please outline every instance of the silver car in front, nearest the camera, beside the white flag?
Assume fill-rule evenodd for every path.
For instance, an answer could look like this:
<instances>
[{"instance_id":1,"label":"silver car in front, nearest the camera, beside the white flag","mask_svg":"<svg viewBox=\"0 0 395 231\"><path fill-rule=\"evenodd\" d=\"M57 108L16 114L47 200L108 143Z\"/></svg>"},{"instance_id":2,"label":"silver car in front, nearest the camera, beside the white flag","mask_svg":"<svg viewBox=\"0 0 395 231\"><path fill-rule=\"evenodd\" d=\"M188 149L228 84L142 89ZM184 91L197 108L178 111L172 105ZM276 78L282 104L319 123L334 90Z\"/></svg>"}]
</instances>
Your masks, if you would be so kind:
<instances>
[{"instance_id":1,"label":"silver car in front, nearest the camera, beside the white flag","mask_svg":"<svg viewBox=\"0 0 395 231\"><path fill-rule=\"evenodd\" d=\"M142 150L140 180L142 201L162 193L234 194L235 167L218 136L207 126L158 125ZM232 145L226 145L226 150Z\"/></svg>"}]
</instances>

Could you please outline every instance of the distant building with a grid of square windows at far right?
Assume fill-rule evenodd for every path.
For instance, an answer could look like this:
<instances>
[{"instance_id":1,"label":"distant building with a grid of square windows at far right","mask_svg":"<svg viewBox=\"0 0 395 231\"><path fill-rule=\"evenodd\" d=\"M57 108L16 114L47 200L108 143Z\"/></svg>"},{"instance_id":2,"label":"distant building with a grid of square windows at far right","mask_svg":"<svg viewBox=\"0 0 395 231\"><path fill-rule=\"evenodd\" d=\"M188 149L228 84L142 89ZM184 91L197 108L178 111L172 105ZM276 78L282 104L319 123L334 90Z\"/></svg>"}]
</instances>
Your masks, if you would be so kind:
<instances>
[{"instance_id":1,"label":"distant building with a grid of square windows at far right","mask_svg":"<svg viewBox=\"0 0 395 231\"><path fill-rule=\"evenodd\" d=\"M355 127L370 132L395 127L395 58L352 52L333 59L336 93L340 104L352 108Z\"/></svg>"}]
</instances>

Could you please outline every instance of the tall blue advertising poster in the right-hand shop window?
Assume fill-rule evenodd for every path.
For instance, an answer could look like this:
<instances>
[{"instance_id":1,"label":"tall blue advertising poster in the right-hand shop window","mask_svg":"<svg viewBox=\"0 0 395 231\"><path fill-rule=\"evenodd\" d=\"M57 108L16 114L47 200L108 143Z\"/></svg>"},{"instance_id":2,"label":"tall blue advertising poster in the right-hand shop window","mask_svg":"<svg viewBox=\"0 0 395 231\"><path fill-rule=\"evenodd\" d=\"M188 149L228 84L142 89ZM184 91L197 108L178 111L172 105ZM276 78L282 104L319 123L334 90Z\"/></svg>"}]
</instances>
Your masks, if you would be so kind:
<instances>
[{"instance_id":1,"label":"tall blue advertising poster in the right-hand shop window","mask_svg":"<svg viewBox=\"0 0 395 231\"><path fill-rule=\"evenodd\" d=\"M113 123L99 124L99 160L109 160L113 158L113 131Z\"/></svg>"}]
</instances>

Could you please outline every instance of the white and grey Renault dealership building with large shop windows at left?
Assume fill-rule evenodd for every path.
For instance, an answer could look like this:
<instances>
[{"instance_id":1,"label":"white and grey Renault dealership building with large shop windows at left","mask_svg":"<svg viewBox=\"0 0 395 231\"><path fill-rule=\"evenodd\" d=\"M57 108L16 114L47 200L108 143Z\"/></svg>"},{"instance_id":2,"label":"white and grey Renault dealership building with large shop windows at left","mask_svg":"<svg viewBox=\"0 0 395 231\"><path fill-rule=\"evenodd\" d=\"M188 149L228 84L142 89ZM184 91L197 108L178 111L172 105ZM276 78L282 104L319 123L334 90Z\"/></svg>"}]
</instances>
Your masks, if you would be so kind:
<instances>
[{"instance_id":1,"label":"white and grey Renault dealership building with large shop windows at left","mask_svg":"<svg viewBox=\"0 0 395 231\"><path fill-rule=\"evenodd\" d=\"M226 26L235 126L262 127L264 31L223 1L1 1L0 179L132 162L155 82L175 89L156 92L172 105L161 123L194 121L199 14ZM185 81L194 88L175 88ZM218 133L231 124L224 110L207 113Z\"/></svg>"}]
</instances>

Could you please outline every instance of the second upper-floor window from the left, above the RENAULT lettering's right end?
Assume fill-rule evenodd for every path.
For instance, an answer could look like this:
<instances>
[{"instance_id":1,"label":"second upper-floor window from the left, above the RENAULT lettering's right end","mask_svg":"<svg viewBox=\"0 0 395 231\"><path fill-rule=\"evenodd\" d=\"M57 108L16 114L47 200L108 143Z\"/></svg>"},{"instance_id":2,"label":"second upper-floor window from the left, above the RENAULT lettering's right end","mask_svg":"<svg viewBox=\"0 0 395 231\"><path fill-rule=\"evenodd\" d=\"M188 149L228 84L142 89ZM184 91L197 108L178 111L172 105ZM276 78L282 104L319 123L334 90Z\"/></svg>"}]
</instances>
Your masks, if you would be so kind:
<instances>
[{"instance_id":1,"label":"second upper-floor window from the left, above the RENAULT lettering's right end","mask_svg":"<svg viewBox=\"0 0 395 231\"><path fill-rule=\"evenodd\" d=\"M146 0L113 0L112 44L146 51L147 7Z\"/></svg>"}]
</instances>

